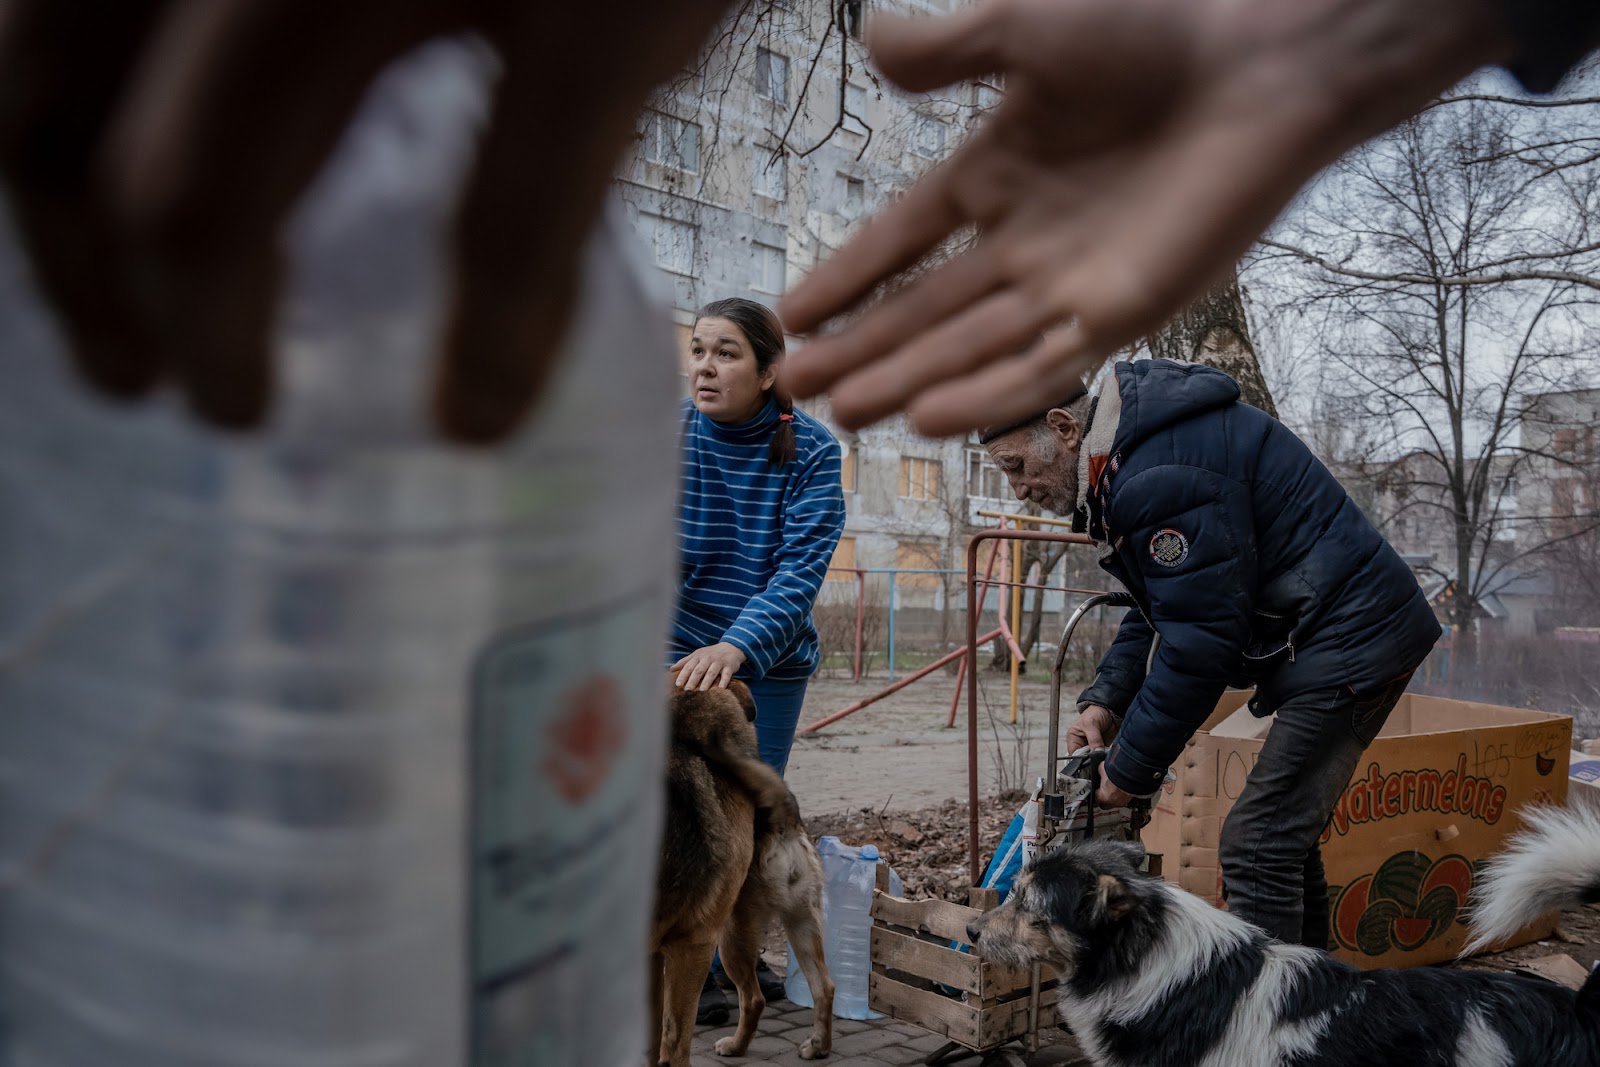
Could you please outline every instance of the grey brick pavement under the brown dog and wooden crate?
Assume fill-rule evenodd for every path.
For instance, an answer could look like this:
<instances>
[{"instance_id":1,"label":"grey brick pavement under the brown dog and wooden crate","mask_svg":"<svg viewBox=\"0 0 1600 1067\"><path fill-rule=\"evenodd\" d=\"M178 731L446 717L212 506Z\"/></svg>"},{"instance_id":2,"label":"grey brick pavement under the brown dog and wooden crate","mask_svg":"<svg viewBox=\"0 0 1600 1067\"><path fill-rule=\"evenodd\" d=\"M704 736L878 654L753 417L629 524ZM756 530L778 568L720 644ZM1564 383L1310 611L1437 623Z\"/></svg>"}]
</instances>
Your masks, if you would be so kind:
<instances>
[{"instance_id":1,"label":"grey brick pavement under the brown dog and wooden crate","mask_svg":"<svg viewBox=\"0 0 1600 1067\"><path fill-rule=\"evenodd\" d=\"M787 1000L766 1005L762 1024L750 1041L749 1054L742 1057L717 1056L718 1038L733 1033L733 1025L701 1029L694 1033L694 1067L734 1067L738 1064L781 1064L782 1067L899 1067L920 1064L931 1053L944 1048L944 1038L920 1027L894 1019L858 1022L834 1019L834 1054L821 1061L800 1059L800 1043L811 1033L811 1009ZM1040 1035L1043 1046L1027 1054L1021 1045L1008 1046L1010 1056L990 1054L987 1059L968 1056L950 1061L952 1067L1086 1067L1072 1038L1059 1030Z\"/></svg>"}]
</instances>

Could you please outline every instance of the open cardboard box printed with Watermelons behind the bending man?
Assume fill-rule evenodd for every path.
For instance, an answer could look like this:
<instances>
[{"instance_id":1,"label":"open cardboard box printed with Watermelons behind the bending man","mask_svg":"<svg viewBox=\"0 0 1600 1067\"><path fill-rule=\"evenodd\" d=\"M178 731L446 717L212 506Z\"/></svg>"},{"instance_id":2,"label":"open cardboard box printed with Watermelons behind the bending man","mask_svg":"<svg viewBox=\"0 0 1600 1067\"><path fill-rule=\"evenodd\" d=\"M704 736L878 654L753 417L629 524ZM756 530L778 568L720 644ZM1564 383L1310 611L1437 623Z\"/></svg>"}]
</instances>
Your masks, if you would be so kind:
<instances>
[{"instance_id":1,"label":"open cardboard box printed with Watermelons behind the bending man","mask_svg":"<svg viewBox=\"0 0 1600 1067\"><path fill-rule=\"evenodd\" d=\"M1222 902L1218 833L1272 725L1227 693L1184 749L1144 843L1165 877ZM1334 955L1363 968L1453 958L1477 867L1528 803L1565 803L1573 720L1405 694L1323 830ZM1547 936L1555 917L1510 944Z\"/></svg>"}]
</instances>

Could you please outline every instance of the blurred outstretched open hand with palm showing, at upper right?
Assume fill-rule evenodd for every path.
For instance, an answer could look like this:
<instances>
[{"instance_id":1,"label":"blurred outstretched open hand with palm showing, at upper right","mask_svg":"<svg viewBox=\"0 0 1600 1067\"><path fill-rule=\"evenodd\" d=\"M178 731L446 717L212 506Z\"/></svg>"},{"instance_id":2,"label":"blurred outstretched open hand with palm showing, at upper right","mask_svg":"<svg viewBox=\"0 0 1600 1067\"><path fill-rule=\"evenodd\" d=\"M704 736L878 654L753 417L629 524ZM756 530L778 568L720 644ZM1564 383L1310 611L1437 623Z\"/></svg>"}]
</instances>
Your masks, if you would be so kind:
<instances>
[{"instance_id":1,"label":"blurred outstretched open hand with palm showing, at upper right","mask_svg":"<svg viewBox=\"0 0 1600 1067\"><path fill-rule=\"evenodd\" d=\"M878 18L910 91L1005 75L955 155L781 304L848 322L790 357L856 429L1022 418L1160 328L1347 147L1509 50L1488 0L987 0ZM971 245L872 304L963 227Z\"/></svg>"}]
</instances>

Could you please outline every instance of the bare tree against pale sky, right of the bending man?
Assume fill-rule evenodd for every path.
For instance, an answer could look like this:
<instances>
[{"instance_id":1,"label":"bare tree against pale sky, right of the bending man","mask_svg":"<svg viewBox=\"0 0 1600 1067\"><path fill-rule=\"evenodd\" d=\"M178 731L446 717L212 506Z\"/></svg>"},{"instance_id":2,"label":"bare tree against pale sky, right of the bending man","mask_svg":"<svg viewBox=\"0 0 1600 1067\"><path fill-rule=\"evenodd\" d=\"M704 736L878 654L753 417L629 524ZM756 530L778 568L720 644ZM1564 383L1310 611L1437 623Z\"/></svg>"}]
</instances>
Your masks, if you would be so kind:
<instances>
[{"instance_id":1,"label":"bare tree against pale sky, right of the bending man","mask_svg":"<svg viewBox=\"0 0 1600 1067\"><path fill-rule=\"evenodd\" d=\"M1379 430L1358 466L1386 518L1445 530L1458 624L1560 536L1517 515L1515 488L1555 459L1522 437L1536 397L1590 366L1597 120L1434 107L1336 163L1248 270L1325 368L1326 406Z\"/></svg>"}]
</instances>

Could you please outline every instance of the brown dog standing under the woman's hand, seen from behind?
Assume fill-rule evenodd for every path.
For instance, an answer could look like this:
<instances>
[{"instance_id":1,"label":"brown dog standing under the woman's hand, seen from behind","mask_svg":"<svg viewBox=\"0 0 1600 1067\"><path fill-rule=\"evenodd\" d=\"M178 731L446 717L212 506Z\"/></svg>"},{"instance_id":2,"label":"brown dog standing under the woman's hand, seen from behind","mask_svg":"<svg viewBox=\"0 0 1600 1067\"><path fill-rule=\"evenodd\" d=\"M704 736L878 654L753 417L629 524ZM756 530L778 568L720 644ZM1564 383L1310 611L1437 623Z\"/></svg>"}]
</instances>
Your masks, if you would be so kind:
<instances>
[{"instance_id":1,"label":"brown dog standing under the woman's hand, seen from behind","mask_svg":"<svg viewBox=\"0 0 1600 1067\"><path fill-rule=\"evenodd\" d=\"M755 981L766 923L776 917L816 1000L802 1059L834 1043L834 982L822 960L822 864L794 793L762 763L755 701L742 683L672 689L667 824L651 934L651 1006L658 1064L688 1067L694 1006L712 950L739 992L739 1029L718 1056L742 1056L766 1008Z\"/></svg>"}]
</instances>

